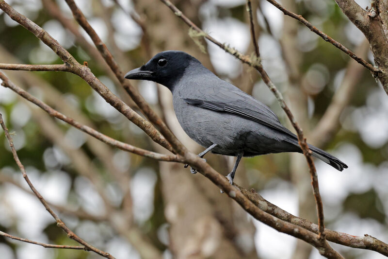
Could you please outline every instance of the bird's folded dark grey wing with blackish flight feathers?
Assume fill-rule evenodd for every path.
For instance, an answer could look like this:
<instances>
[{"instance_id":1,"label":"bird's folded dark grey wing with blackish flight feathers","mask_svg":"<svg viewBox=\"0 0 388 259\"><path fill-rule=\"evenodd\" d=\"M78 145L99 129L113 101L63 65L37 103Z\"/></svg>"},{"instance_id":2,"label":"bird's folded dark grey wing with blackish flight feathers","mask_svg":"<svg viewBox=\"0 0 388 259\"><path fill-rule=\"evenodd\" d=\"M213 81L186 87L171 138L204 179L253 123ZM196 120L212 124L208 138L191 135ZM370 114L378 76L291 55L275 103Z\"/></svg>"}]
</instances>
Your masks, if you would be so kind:
<instances>
[{"instance_id":1,"label":"bird's folded dark grey wing with blackish flight feathers","mask_svg":"<svg viewBox=\"0 0 388 259\"><path fill-rule=\"evenodd\" d=\"M247 120L256 121L260 124L266 125L270 128L286 133L287 135L291 135L292 137L295 136L290 130L285 128L278 121L277 117L275 117L276 118L275 119L272 116L273 115L272 112L268 114L267 110L261 111L260 108L262 107L258 108L258 107L254 107L253 105L245 105L250 107L243 107L242 105L233 104L233 102L226 104L223 102L190 99L190 98L186 98L184 99L184 101L188 104L196 105L201 108L210 109L210 110L219 111L219 112L226 112Z\"/></svg>"}]
</instances>

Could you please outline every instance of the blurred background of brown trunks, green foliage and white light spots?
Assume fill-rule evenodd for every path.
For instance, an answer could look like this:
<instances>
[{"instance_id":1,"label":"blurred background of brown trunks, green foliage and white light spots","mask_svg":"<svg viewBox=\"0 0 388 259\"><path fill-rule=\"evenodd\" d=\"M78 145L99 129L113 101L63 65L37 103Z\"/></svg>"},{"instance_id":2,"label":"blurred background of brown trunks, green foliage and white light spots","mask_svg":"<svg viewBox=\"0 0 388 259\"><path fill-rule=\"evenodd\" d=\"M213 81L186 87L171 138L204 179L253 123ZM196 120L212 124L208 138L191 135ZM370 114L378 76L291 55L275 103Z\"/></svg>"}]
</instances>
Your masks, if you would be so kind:
<instances>
[{"instance_id":1,"label":"blurred background of brown trunks, green foliage and white light spots","mask_svg":"<svg viewBox=\"0 0 388 259\"><path fill-rule=\"evenodd\" d=\"M87 61L113 93L136 109L91 47L89 37L73 20L65 1L7 2L48 31L80 63ZM194 38L195 43L188 27L160 1L119 0L124 10L112 0L76 2L123 71L141 66L163 50L188 52L219 77L270 106L291 129L256 71L208 42ZM253 52L244 0L173 2L220 42L247 54ZM357 3L363 8L370 6L368 0ZM307 140L349 166L339 173L316 161L326 227L358 236L370 234L387 242L387 95L367 69L307 27L284 17L265 0L253 0L252 4L264 68L285 96ZM282 4L373 64L364 35L341 13L335 1L283 0ZM134 12L146 34L129 16ZM201 52L198 44L205 46L207 53ZM47 46L1 11L0 62L61 63ZM162 152L77 76L65 72L3 72L16 85L65 115L113 138ZM139 87L146 101L191 151L202 150L178 125L168 90L152 82L131 83ZM205 177L191 175L181 164L158 162L99 143L50 118L4 87L0 87L0 112L14 132L18 155L35 187L80 237L118 259L320 258L317 250L304 242L253 220ZM331 130L323 132L325 127ZM220 155L207 155L207 159L225 175L234 162L234 158ZM235 181L247 189L254 188L278 207L316 222L303 155L244 158ZM2 131L0 230L40 242L73 244L29 191ZM349 259L383 258L372 251L336 244L333 247ZM0 258L100 257L0 237Z\"/></svg>"}]
</instances>

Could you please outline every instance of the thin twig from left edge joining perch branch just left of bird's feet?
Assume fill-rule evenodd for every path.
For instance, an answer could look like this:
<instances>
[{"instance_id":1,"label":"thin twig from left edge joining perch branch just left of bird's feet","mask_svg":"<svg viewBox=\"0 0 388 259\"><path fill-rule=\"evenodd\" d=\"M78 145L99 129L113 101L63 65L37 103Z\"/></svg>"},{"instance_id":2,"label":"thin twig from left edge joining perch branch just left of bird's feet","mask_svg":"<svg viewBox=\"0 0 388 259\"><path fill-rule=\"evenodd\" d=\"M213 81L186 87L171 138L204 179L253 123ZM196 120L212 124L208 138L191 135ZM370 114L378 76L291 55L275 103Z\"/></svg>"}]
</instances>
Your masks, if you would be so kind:
<instances>
[{"instance_id":1,"label":"thin twig from left edge joining perch branch just left of bird's feet","mask_svg":"<svg viewBox=\"0 0 388 259\"><path fill-rule=\"evenodd\" d=\"M118 141L114 138L108 137L108 136L98 132L97 130L95 130L89 126L83 125L83 124L79 123L78 121L75 121L75 120L65 116L64 114L58 112L57 110L51 108L49 105L47 105L47 104L43 103L42 101L40 101L39 99L35 98L34 96L32 96L30 93L26 92L25 90L23 90L19 86L16 86L2 72L0 72L0 79L3 81L1 83L2 86L10 88L14 92L16 92L18 95L20 95L21 97L26 99L27 101L30 101L33 104L36 104L37 106L42 108L44 111L46 111L50 116L58 118L61 121L65 121L66 123L68 123L68 124L74 126L75 128L89 134L90 136L92 136L94 138L97 138L98 140L100 140L106 144L109 144L113 147L116 147L118 149L130 152L130 153L133 153L136 155L150 157L150 158L154 158L157 160L182 162L182 158L178 155L163 155L160 153L155 153L152 151L148 151L148 150L138 148L138 147L132 146L130 144Z\"/></svg>"}]
</instances>

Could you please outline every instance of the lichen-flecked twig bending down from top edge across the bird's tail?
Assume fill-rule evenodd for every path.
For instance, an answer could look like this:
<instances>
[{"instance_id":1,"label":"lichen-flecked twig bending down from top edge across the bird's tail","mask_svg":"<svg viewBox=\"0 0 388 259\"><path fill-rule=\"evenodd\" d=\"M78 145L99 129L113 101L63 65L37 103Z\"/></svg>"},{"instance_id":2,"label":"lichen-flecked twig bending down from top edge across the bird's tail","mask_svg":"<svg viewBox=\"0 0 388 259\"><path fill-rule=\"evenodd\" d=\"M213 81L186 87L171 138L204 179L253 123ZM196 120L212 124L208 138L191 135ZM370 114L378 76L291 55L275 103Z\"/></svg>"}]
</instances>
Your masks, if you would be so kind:
<instances>
[{"instance_id":1,"label":"lichen-flecked twig bending down from top edge across the bird's tail","mask_svg":"<svg viewBox=\"0 0 388 259\"><path fill-rule=\"evenodd\" d=\"M296 122L294 116L291 113L290 108L287 106L285 103L282 94L279 92L279 90L276 88L274 83L271 81L269 78L267 72L264 70L264 68L261 65L260 59L258 57L251 58L246 55L243 55L241 52L238 52L236 49L231 48L230 46L226 44L222 44L210 35L206 34L204 31L202 31L198 26L196 26L188 17L186 17L171 1L169 0L161 0L165 5L167 5L173 12L174 14L182 19L187 25L189 25L192 29L195 31L201 33L204 35L204 37L217 46L219 46L221 49L225 50L227 53L232 54L239 60L241 60L243 63L246 63L255 69L257 69L261 75L261 78L263 79L264 83L270 88L270 90L274 93L276 100L279 102L280 106L283 108L283 110L286 112L288 118L291 121L292 126L296 130L297 136L298 136L298 142L299 145L303 151L303 154L306 157L308 167L310 169L310 175L311 175L311 181L312 181L312 188L313 188L313 194L314 198L317 204L317 210L318 210L318 224L320 226L319 228L319 236L320 239L324 239L324 216L323 216L323 204L322 204L322 199L321 195L319 194L319 184L318 184L318 175L317 171L315 169L314 161L312 160L311 157L311 151L309 150L307 146L307 141L306 138L303 136L303 131L299 127L298 123Z\"/></svg>"}]
</instances>

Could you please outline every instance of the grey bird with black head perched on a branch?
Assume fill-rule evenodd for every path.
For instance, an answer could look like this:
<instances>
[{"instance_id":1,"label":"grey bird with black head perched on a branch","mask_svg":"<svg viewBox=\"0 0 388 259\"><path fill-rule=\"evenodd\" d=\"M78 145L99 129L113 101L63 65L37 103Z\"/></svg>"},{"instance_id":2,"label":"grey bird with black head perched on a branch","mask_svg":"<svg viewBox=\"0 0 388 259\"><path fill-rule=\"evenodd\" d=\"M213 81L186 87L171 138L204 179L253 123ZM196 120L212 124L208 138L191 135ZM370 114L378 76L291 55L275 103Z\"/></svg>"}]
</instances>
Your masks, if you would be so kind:
<instances>
[{"instance_id":1,"label":"grey bird with black head perched on a branch","mask_svg":"<svg viewBox=\"0 0 388 259\"><path fill-rule=\"evenodd\" d=\"M280 123L268 106L220 79L186 52L159 52L145 65L130 70L125 78L153 81L172 92L179 124L190 138L206 148L199 157L210 151L237 157L226 176L230 184L243 156L303 153L297 136ZM348 168L322 149L310 144L308 147L312 156L335 169ZM196 172L191 168L191 173Z\"/></svg>"}]
</instances>

